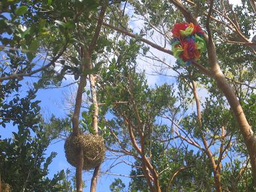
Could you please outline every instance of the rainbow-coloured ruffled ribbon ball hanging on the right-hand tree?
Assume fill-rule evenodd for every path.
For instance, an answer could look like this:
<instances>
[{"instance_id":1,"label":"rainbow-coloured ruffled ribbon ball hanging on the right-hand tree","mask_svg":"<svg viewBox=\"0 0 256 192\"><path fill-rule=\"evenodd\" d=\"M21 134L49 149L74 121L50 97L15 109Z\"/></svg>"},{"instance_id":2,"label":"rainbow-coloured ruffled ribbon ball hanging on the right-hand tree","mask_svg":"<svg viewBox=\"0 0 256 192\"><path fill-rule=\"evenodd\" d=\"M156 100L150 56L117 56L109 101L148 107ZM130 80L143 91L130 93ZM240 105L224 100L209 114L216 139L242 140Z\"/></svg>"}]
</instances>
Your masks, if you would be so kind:
<instances>
[{"instance_id":1,"label":"rainbow-coloured ruffled ribbon ball hanging on the right-hand tree","mask_svg":"<svg viewBox=\"0 0 256 192\"><path fill-rule=\"evenodd\" d=\"M172 52L179 63L191 64L205 51L203 30L193 23L176 23L172 29Z\"/></svg>"}]
</instances>

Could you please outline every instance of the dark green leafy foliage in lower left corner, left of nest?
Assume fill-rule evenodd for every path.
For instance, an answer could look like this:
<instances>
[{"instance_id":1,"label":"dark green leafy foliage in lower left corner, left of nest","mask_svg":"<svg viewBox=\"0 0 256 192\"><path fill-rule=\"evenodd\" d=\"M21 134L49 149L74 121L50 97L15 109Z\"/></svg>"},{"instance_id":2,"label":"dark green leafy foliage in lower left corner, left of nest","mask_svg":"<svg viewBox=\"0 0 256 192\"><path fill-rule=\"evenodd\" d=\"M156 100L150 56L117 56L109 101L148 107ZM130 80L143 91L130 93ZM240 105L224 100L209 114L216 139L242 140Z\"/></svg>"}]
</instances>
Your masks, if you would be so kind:
<instances>
[{"instance_id":1,"label":"dark green leafy foliage in lower left corner, left of nest","mask_svg":"<svg viewBox=\"0 0 256 192\"><path fill-rule=\"evenodd\" d=\"M0 140L1 180L14 191L60 191L57 183L63 179L63 172L52 179L47 177L48 166L57 153L44 156L51 139L38 126L40 107L34 101L35 94L35 90L28 91L24 98L16 94L10 101L12 105L1 108L1 124L13 122L18 127L13 139Z\"/></svg>"}]
</instances>

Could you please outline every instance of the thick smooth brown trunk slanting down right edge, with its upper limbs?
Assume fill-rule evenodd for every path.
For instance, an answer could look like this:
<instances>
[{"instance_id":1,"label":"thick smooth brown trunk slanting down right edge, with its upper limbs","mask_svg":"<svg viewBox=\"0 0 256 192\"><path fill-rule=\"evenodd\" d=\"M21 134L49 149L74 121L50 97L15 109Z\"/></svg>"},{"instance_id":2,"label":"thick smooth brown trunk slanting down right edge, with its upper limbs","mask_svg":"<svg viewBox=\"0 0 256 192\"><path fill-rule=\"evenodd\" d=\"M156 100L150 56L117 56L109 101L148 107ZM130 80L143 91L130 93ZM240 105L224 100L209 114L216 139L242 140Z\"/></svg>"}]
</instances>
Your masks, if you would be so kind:
<instances>
[{"instance_id":1,"label":"thick smooth brown trunk slanting down right edge, with its upper limbs","mask_svg":"<svg viewBox=\"0 0 256 192\"><path fill-rule=\"evenodd\" d=\"M170 0L170 1L174 3L174 5L176 5L176 7L182 12L187 22L192 21L194 24L197 24L197 20L193 18L193 15L184 7L184 5L180 0ZM214 1L211 0L209 12L207 14L206 28L207 28L208 36L207 34L204 35L207 41L207 53L209 57L209 62L211 64L211 77L215 79L215 81L217 82L218 88L220 89L220 91L222 91L222 93L228 100L228 103L232 108L232 111L236 118L236 122L238 122L240 131L243 135L243 139L251 160L251 170L253 172L253 183L256 187L256 136L254 135L253 130L251 129L251 126L249 126L249 123L247 122L247 118L245 117L243 109L238 99L236 98L234 91L232 90L228 82L226 82L226 78L222 73L222 70L220 69L220 66L218 65L218 62L217 62L217 53L215 49L215 44L213 43L213 38L211 37L211 30L209 27L211 11L213 10L213 2Z\"/></svg>"}]
</instances>

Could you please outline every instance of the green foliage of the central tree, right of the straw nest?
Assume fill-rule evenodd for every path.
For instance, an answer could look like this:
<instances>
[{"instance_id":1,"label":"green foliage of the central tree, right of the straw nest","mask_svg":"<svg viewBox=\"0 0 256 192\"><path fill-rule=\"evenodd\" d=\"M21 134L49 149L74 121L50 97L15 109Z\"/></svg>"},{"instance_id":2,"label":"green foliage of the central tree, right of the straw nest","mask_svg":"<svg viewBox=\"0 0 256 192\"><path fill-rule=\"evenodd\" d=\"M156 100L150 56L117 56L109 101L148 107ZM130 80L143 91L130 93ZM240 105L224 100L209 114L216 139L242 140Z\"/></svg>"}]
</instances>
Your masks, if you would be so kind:
<instances>
[{"instance_id":1,"label":"green foliage of the central tree, right of the straw nest","mask_svg":"<svg viewBox=\"0 0 256 192\"><path fill-rule=\"evenodd\" d=\"M120 41L120 44L122 43L123 41ZM130 45L122 45L126 49L125 52L120 51L118 58L112 59L112 63L101 70L102 82L99 82L98 95L99 101L105 103L101 107L101 112L103 112L101 116L111 112L113 117L107 120L107 127L111 128L111 131L121 142L118 143L111 134L106 137L106 143L110 148L124 147L136 153L128 135L128 128L124 124L124 115L136 128L139 127L137 118L140 116L141 124L144 126L141 131L145 135L145 154L150 156L151 164L156 170L159 172L163 170L159 180L162 189L165 190L171 173L177 168L184 165L197 165L199 167L205 164L207 158L204 156L203 161L199 160L199 153L193 155L193 152L188 153L187 149L183 147L177 151L176 147L170 144L170 141L173 140L170 136L171 128L161 124L160 116L176 114L179 111L179 108L175 107L178 99L174 96L174 86L163 84L150 88L145 80L145 75L137 73L136 66L134 66L134 63L136 63L134 58L140 51L140 47L134 47L134 41L129 43ZM136 105L138 111L134 110L133 105ZM135 135L136 141L140 143L138 132L135 132ZM118 146L118 144L120 145ZM209 163L207 162L207 164ZM141 160L135 160L130 173L135 177L132 177L129 189L130 191L149 191L145 178L136 177L143 175L142 170L138 168L139 166L141 166ZM210 166L203 173L201 171L200 169L193 169L180 174L174 181L173 189L186 190L197 185L206 189L212 182ZM201 179L202 175L204 180ZM191 184L191 181L194 181L194 183ZM113 185L115 184L116 182L113 183Z\"/></svg>"}]
</instances>

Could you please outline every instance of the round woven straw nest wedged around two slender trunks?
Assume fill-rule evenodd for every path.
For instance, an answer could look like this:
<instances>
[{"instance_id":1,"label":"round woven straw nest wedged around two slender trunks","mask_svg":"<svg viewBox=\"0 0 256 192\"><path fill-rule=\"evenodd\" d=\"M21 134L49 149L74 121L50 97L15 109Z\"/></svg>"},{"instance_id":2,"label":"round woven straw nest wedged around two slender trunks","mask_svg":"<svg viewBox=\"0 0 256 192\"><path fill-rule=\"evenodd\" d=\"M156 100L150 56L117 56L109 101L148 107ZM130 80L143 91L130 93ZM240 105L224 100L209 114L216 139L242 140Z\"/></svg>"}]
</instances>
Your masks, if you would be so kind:
<instances>
[{"instance_id":1,"label":"round woven straw nest wedged around two slender trunks","mask_svg":"<svg viewBox=\"0 0 256 192\"><path fill-rule=\"evenodd\" d=\"M105 144L103 137L92 134L70 135L64 144L66 160L74 167L78 165L78 152L84 150L84 170L99 166L105 158Z\"/></svg>"}]
</instances>

